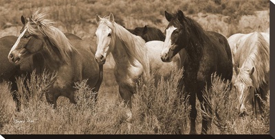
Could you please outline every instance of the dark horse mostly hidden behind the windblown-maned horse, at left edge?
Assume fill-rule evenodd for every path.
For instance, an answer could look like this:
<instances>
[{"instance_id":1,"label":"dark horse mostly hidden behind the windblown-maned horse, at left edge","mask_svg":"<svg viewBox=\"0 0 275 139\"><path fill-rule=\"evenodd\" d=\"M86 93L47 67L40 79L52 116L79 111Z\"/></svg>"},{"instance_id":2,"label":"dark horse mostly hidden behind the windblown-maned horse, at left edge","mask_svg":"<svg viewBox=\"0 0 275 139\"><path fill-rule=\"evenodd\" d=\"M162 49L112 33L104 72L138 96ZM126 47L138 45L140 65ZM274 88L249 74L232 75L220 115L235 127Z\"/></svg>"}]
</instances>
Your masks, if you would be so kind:
<instances>
[{"instance_id":1,"label":"dark horse mostly hidden behind the windblown-maned horse, at left edge","mask_svg":"<svg viewBox=\"0 0 275 139\"><path fill-rule=\"evenodd\" d=\"M69 40L75 40L75 39L80 39L78 36L74 34L69 34L65 33L65 36L69 38ZM39 65L41 63L35 63L33 60L36 58L41 58L41 54L37 53L36 55L32 55L32 57L27 58L26 60L23 60L21 64L18 66L12 64L8 60L8 53L10 52L10 49L12 48L12 45L17 41L17 36L4 36L0 38L0 51L3 53L3 55L0 55L0 83L2 81L10 81L11 84L11 92L12 92L12 97L15 101L16 104L16 111L20 112L20 101L18 99L19 96L17 96L16 91L18 91L17 88L17 83L16 83L16 78L20 77L22 74L25 75L26 78L30 78L30 74L34 69L36 71L39 71L36 68L39 68ZM36 65L34 65L36 64Z\"/></svg>"}]
</instances>

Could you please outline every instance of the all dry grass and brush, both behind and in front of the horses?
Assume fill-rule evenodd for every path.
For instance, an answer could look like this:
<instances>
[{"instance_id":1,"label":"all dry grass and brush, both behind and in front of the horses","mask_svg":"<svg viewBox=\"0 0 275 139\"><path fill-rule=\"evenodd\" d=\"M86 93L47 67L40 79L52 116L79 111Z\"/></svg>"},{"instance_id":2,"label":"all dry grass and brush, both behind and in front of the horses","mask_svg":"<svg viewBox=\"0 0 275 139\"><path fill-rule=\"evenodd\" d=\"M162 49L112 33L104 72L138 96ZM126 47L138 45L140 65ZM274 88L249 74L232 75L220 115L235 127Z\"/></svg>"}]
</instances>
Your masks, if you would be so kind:
<instances>
[{"instance_id":1,"label":"all dry grass and brush, both behind and in front of the horses","mask_svg":"<svg viewBox=\"0 0 275 139\"><path fill-rule=\"evenodd\" d=\"M218 31L226 37L270 27L268 0L0 0L0 3L0 37L18 36L21 15L30 16L38 9L49 12L56 27L83 39L95 39L95 15L109 15L109 12L113 13L117 23L128 28L151 25L164 31L167 25L164 10L175 12L177 9L201 23L204 29ZM19 93L29 97L28 100L21 99L21 112L14 112L10 83L0 84L0 134L188 134L190 108L186 103L179 103L175 90L181 71L173 71L172 78L159 81L157 88L153 86L153 79L147 84L149 88L137 88L133 99L133 127L127 131L125 108L112 68L111 62L104 65L104 81L97 103L93 103L93 92L82 81L76 84L78 103L74 105L60 97L56 110L46 103L43 95L54 77L50 73L32 75L28 81L28 88L32 90L26 90L21 83L23 77L19 77ZM230 83L213 77L214 86L205 92L206 97L214 98L209 101L213 114L206 113L213 118L210 134L269 134L269 101L265 102L262 117L256 118L252 114L239 117L234 110L237 96L229 89ZM199 118L201 114L198 112L197 123ZM200 131L200 124L197 131Z\"/></svg>"}]
</instances>

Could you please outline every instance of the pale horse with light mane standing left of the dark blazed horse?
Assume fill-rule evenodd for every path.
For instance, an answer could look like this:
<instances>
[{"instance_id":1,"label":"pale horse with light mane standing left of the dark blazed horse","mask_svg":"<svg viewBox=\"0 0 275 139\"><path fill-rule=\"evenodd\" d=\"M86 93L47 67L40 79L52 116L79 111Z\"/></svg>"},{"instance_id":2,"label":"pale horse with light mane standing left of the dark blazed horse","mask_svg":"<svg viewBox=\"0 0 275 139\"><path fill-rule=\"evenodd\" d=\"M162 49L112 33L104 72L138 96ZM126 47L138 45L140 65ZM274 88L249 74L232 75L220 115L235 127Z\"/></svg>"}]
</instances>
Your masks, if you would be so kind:
<instances>
[{"instance_id":1,"label":"pale horse with light mane standing left of the dark blazed horse","mask_svg":"<svg viewBox=\"0 0 275 139\"><path fill-rule=\"evenodd\" d=\"M140 36L135 36L131 32L127 31L121 25L118 25L114 21L113 14L109 14L105 18L100 18L96 15L96 21L98 22L98 28L96 29L97 36L97 51L96 61L99 64L104 64L109 53L112 53L113 60L115 61L115 80L118 83L119 93L125 103L128 103L129 116L126 121L131 123L131 97L136 93L136 84L139 79L144 82L148 81L148 77L151 76L150 58L154 56L155 51L160 53L161 49L148 49L149 45L155 45L161 47L162 41L150 41L149 44L145 44L145 41ZM155 59L155 58L154 58ZM168 68L179 68L179 60L175 64L170 62L166 65L162 64L161 60L158 60L159 64ZM169 71L170 72L170 71ZM162 76L170 76L166 73L155 73ZM129 124L131 125L131 124Z\"/></svg>"}]
</instances>

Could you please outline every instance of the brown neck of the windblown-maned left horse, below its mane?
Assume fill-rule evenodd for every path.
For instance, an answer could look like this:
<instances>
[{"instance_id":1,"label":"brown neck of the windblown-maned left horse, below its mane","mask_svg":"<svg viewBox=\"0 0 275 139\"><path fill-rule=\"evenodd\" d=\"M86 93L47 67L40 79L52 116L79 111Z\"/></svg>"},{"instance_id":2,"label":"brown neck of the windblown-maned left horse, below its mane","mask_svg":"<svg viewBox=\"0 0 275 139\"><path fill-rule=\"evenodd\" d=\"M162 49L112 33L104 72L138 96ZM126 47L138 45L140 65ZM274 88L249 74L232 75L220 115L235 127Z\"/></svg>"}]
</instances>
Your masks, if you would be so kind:
<instances>
[{"instance_id":1,"label":"brown neck of the windblown-maned left horse, below its mane","mask_svg":"<svg viewBox=\"0 0 275 139\"><path fill-rule=\"evenodd\" d=\"M65 62L61 58L61 53L59 50L50 42L50 40L47 39L47 37L44 38L44 46L43 51L41 51L41 54L43 55L44 63L46 68L49 68L51 70L56 70L60 66L64 65Z\"/></svg>"}]
</instances>

